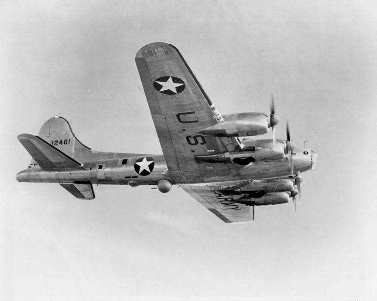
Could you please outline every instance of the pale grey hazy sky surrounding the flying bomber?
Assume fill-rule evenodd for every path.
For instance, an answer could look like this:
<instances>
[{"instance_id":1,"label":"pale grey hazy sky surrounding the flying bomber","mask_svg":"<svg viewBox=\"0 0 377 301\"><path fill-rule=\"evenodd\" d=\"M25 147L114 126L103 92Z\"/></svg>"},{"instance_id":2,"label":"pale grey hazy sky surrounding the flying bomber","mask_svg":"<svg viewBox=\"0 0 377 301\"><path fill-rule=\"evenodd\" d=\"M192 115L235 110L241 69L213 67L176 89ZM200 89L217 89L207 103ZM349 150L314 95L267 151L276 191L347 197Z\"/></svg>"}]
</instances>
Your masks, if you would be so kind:
<instances>
[{"instance_id":1,"label":"pale grey hazy sky surrounding the flying bomber","mask_svg":"<svg viewBox=\"0 0 377 301\"><path fill-rule=\"evenodd\" d=\"M372 1L0 2L0 299L373 300L377 16ZM161 154L135 64L164 41L221 114L268 112L318 153L302 204L223 223L174 187L18 183L17 140L52 116L96 150ZM271 137L271 133L262 138Z\"/></svg>"}]
</instances>

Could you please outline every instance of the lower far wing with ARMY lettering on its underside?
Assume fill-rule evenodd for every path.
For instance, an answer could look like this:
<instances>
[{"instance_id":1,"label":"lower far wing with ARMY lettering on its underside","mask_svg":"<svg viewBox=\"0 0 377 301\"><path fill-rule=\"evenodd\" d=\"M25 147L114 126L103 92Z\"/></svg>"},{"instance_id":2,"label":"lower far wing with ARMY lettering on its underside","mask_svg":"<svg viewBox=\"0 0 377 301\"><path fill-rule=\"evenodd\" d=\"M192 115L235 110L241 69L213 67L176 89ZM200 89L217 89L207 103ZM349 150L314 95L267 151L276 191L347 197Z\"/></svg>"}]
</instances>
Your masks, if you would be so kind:
<instances>
[{"instance_id":1,"label":"lower far wing with ARMY lettering on its underside","mask_svg":"<svg viewBox=\"0 0 377 301\"><path fill-rule=\"evenodd\" d=\"M254 220L254 206L235 203L231 194L224 195L207 185L181 187L225 223L244 223Z\"/></svg>"}]
</instances>

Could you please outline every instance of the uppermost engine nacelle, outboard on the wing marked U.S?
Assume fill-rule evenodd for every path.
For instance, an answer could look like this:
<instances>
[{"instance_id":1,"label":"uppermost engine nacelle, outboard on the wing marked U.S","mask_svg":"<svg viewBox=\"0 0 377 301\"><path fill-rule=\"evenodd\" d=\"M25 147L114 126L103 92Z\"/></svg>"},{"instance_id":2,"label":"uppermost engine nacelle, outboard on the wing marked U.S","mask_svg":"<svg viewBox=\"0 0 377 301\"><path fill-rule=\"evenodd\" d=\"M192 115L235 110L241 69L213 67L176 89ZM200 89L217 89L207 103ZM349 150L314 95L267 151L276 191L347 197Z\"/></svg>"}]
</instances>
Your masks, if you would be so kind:
<instances>
[{"instance_id":1,"label":"uppermost engine nacelle, outboard on the wing marked U.S","mask_svg":"<svg viewBox=\"0 0 377 301\"><path fill-rule=\"evenodd\" d=\"M236 113L223 115L223 121L203 128L200 134L217 137L256 136L268 132L271 123L276 124L278 117L268 113ZM273 120L273 122L271 122Z\"/></svg>"}]
</instances>

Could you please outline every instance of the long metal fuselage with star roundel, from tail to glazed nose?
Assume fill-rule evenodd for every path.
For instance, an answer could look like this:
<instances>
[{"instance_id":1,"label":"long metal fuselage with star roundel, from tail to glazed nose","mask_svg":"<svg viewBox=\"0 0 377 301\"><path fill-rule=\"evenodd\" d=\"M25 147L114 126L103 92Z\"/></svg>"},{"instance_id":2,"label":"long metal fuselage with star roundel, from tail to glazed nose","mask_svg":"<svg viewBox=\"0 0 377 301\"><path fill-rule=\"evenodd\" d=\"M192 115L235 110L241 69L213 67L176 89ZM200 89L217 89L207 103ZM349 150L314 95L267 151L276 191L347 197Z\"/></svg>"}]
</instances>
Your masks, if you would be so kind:
<instances>
[{"instance_id":1,"label":"long metal fuselage with star roundel, from tail to glazed nose","mask_svg":"<svg viewBox=\"0 0 377 301\"><path fill-rule=\"evenodd\" d=\"M165 179L172 184L195 184L256 179L282 178L292 175L288 158L262 161L246 166L223 163L201 163L195 172L169 171L163 155L140 155L137 157L95 160L83 162L81 168L46 171L38 166L17 174L19 182L80 183L108 185L156 185ZM293 174L313 168L316 154L310 149L297 149L293 153Z\"/></svg>"}]
</instances>

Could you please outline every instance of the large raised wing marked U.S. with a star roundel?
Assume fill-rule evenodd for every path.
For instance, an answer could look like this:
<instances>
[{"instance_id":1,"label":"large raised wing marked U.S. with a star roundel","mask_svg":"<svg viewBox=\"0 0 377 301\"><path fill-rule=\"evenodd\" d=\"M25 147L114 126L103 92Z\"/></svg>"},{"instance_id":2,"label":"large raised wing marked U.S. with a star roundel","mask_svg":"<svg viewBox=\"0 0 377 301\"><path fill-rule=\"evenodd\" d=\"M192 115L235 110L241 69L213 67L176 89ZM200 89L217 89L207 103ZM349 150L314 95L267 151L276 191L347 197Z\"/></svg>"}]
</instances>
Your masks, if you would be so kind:
<instances>
[{"instance_id":1,"label":"large raised wing marked U.S. with a star roundel","mask_svg":"<svg viewBox=\"0 0 377 301\"><path fill-rule=\"evenodd\" d=\"M168 169L198 171L195 155L226 152L232 139L197 133L222 117L178 49L152 43L135 60Z\"/></svg>"}]
</instances>

